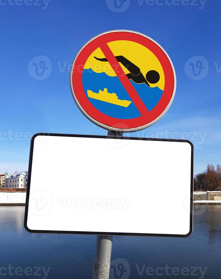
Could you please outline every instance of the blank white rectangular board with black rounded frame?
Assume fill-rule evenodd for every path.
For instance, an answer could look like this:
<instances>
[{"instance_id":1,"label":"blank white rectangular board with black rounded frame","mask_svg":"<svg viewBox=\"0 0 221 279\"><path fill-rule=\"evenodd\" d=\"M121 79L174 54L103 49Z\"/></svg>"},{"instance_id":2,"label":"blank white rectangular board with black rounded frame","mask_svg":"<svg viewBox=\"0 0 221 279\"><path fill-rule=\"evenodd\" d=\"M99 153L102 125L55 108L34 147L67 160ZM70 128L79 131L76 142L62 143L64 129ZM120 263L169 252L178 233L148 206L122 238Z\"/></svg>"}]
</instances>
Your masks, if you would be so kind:
<instances>
[{"instance_id":1,"label":"blank white rectangular board with black rounded frame","mask_svg":"<svg viewBox=\"0 0 221 279\"><path fill-rule=\"evenodd\" d=\"M32 138L30 232L187 237L193 145L61 134Z\"/></svg>"}]
</instances>

